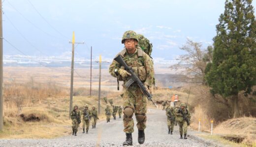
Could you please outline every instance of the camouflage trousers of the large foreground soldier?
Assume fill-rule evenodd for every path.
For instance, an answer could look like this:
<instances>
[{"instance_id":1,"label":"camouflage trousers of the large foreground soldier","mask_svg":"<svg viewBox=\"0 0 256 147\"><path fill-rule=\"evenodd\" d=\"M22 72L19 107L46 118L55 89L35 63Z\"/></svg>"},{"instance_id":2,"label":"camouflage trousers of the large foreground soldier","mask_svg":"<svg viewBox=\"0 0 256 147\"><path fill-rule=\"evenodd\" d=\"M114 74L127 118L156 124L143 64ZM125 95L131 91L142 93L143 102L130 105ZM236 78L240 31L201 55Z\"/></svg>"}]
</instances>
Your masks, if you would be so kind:
<instances>
[{"instance_id":1,"label":"camouflage trousers of the large foreground soldier","mask_svg":"<svg viewBox=\"0 0 256 147\"><path fill-rule=\"evenodd\" d=\"M136 115L144 115L145 118L141 122L137 121L137 128L139 130L144 130L146 128L146 122L147 122L147 104L148 104L148 99L140 88L138 86L130 86L129 89L127 90L126 88L123 88L123 98L124 98L124 110L129 107L133 109L133 112ZM133 119L131 118L130 120L126 119L126 115L124 114L124 132L125 133L132 133L134 131L134 122Z\"/></svg>"}]
</instances>

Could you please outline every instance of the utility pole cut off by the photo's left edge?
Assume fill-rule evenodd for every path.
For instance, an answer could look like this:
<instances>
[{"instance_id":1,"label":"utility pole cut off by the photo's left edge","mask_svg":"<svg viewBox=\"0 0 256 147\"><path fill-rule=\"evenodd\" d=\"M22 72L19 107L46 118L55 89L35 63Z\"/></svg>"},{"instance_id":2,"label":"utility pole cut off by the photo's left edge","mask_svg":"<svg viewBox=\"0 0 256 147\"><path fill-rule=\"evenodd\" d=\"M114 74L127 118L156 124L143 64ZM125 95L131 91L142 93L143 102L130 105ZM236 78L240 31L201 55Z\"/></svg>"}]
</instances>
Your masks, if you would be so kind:
<instances>
[{"instance_id":1,"label":"utility pole cut off by the photo's left edge","mask_svg":"<svg viewBox=\"0 0 256 147\"><path fill-rule=\"evenodd\" d=\"M3 97L2 97L2 0L0 0L0 131L3 129Z\"/></svg>"}]
</instances>

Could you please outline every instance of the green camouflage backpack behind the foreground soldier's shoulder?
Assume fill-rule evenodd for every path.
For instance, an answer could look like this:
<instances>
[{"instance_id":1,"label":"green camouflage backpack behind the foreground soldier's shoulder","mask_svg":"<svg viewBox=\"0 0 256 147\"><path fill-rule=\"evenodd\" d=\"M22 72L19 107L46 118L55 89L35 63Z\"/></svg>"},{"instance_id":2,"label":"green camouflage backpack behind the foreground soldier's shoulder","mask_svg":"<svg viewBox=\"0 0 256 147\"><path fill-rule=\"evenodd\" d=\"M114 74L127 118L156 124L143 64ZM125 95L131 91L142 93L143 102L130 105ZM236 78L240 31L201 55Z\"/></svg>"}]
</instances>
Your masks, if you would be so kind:
<instances>
[{"instance_id":1,"label":"green camouflage backpack behind the foreground soldier's shoulder","mask_svg":"<svg viewBox=\"0 0 256 147\"><path fill-rule=\"evenodd\" d=\"M151 56L151 52L152 52L152 44L150 43L150 41L144 37L143 35L141 34L137 34L138 38L139 38L139 47L144 51L146 52L149 56Z\"/></svg>"}]
</instances>

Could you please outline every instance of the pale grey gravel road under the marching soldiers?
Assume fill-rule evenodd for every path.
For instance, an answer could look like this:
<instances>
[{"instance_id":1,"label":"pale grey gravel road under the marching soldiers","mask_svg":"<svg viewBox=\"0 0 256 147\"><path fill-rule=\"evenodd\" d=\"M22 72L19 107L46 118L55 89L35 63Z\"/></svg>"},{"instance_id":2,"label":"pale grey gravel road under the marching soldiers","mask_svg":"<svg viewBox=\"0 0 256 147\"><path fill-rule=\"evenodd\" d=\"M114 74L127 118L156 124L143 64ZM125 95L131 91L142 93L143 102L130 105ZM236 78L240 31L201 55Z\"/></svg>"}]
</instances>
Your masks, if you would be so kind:
<instances>
[{"instance_id":1,"label":"pale grey gravel road under the marching soldiers","mask_svg":"<svg viewBox=\"0 0 256 147\"><path fill-rule=\"evenodd\" d=\"M134 147L222 147L212 141L196 137L193 135L196 132L192 130L188 131L187 140L179 139L178 126L174 127L173 135L167 134L165 111L149 109L147 118L145 143L138 144L138 131L135 125L132 133ZM90 126L88 134L83 134L80 128L77 136L69 135L57 139L0 139L0 147L122 147L125 138L122 119L111 118L110 123L99 122L96 129Z\"/></svg>"}]
</instances>

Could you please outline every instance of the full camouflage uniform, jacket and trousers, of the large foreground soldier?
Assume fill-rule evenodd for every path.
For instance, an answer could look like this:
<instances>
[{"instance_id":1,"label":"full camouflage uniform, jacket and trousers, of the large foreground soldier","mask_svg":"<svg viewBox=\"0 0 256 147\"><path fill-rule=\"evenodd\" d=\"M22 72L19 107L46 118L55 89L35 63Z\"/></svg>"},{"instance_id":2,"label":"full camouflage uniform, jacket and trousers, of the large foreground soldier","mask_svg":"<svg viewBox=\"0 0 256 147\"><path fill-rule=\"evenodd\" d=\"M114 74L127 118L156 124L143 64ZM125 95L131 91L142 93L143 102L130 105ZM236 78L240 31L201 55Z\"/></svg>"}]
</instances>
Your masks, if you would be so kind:
<instances>
[{"instance_id":1,"label":"full camouflage uniform, jacket and trousers, of the large foreground soldier","mask_svg":"<svg viewBox=\"0 0 256 147\"><path fill-rule=\"evenodd\" d=\"M127 63L129 67L131 67L136 75L140 78L142 83L144 85L147 85L148 88L153 87L154 83L154 67L152 59L148 54L146 54L140 47L136 46L135 52L133 54L129 54L124 48L119 53L124 61ZM118 55L119 55L118 54ZM121 65L113 60L112 64L109 67L109 73L117 77L118 80L124 80L124 84L129 79L129 76L123 79L123 77L114 72L115 69L124 69L124 67L121 67ZM124 86L124 85L123 85ZM141 122L138 122L137 120L137 128L139 130L144 130L146 128L146 122L147 122L147 103L148 99L146 96L142 93L140 88L137 86L136 83L133 83L130 85L130 87L127 89L126 87L123 88L123 99L124 104L123 108L124 110L129 107L133 110L135 113L135 116L145 116L144 119ZM127 118L126 115L124 115L124 132L125 133L132 133L134 131L134 123L132 118Z\"/></svg>"}]
</instances>

